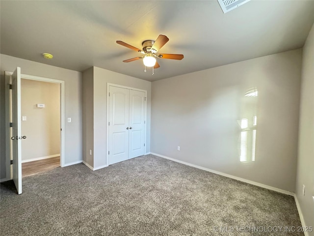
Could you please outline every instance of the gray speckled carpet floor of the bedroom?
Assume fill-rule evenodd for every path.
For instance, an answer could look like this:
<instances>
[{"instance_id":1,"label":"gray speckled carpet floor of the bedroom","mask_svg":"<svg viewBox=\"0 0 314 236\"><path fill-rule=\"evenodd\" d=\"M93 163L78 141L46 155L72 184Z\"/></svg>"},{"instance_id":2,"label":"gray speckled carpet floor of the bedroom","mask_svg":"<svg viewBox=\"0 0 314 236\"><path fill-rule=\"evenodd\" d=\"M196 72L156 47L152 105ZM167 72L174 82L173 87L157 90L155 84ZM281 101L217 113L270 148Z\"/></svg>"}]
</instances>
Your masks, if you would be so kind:
<instances>
[{"instance_id":1,"label":"gray speckled carpet floor of the bedroom","mask_svg":"<svg viewBox=\"0 0 314 236\"><path fill-rule=\"evenodd\" d=\"M293 197L153 155L1 183L0 210L1 236L303 235L262 232L301 226Z\"/></svg>"}]
</instances>

